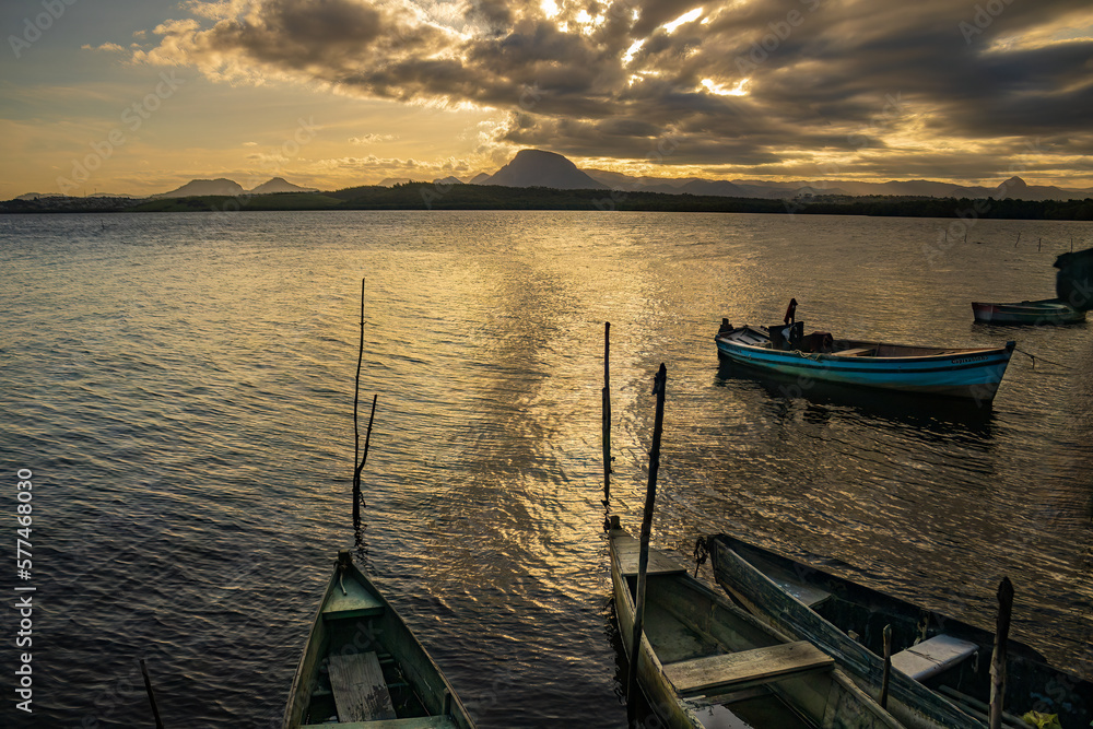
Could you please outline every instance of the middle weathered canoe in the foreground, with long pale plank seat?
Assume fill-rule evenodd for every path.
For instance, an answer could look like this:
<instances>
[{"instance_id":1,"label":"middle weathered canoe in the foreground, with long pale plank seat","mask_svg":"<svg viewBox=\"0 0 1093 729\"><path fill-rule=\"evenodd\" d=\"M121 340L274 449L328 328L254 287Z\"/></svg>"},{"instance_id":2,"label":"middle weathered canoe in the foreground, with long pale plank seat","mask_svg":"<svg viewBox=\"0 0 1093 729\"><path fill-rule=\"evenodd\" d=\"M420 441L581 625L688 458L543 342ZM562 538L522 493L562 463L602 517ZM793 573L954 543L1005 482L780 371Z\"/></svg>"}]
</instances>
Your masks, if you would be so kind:
<instances>
[{"instance_id":1,"label":"middle weathered canoe in the foreground, with long pale plank seat","mask_svg":"<svg viewBox=\"0 0 1093 729\"><path fill-rule=\"evenodd\" d=\"M618 522L612 527L615 616L628 644L639 544ZM666 554L650 550L646 574L640 649L628 658L668 727L903 726L815 646L763 625Z\"/></svg>"}]
</instances>

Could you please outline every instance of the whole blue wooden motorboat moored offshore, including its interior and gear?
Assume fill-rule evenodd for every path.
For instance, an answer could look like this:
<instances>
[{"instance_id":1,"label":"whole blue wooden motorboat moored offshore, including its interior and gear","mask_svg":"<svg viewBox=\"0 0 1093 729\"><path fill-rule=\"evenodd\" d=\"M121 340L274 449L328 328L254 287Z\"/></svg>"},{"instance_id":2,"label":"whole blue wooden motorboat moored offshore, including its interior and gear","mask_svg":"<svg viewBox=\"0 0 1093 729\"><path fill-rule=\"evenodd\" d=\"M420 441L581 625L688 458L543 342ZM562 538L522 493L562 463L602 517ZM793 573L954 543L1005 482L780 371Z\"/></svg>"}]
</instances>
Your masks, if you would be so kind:
<instances>
[{"instance_id":1,"label":"whole blue wooden motorboat moored offshore, including its interior and gear","mask_svg":"<svg viewBox=\"0 0 1093 729\"><path fill-rule=\"evenodd\" d=\"M732 362L791 377L919 395L990 402L1016 342L1006 346L943 348L835 340L803 334L803 322L785 327L733 327L727 319L715 337Z\"/></svg>"}]
</instances>

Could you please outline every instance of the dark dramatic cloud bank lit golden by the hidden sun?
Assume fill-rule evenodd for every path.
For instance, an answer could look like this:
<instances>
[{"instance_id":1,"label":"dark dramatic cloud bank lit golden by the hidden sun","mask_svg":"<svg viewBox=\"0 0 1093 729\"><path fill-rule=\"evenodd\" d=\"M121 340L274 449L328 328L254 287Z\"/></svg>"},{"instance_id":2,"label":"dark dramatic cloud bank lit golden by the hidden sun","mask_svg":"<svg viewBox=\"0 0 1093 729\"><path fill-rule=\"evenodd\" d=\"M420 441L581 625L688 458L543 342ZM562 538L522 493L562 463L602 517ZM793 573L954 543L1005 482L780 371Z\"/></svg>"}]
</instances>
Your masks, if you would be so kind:
<instances>
[{"instance_id":1,"label":"dark dramatic cloud bank lit golden by the hidden sun","mask_svg":"<svg viewBox=\"0 0 1093 729\"><path fill-rule=\"evenodd\" d=\"M1089 0L189 2L138 62L496 109L491 142L777 175L1089 169ZM363 139L363 138L362 138ZM1085 176L1083 174L1083 176Z\"/></svg>"}]
</instances>

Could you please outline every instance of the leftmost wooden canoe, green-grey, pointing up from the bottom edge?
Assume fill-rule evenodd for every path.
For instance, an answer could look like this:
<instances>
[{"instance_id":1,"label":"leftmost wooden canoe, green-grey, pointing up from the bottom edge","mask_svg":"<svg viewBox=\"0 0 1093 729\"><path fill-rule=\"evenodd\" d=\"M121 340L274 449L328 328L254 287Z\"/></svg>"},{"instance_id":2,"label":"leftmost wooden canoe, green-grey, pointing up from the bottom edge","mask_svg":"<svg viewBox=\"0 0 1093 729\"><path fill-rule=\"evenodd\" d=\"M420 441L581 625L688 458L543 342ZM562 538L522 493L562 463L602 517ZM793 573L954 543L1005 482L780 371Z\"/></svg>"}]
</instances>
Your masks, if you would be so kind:
<instances>
[{"instance_id":1,"label":"leftmost wooden canoe, green-grey, pointing up from the bottom edge","mask_svg":"<svg viewBox=\"0 0 1093 729\"><path fill-rule=\"evenodd\" d=\"M340 552L299 659L285 729L470 729L433 659Z\"/></svg>"}]
</instances>

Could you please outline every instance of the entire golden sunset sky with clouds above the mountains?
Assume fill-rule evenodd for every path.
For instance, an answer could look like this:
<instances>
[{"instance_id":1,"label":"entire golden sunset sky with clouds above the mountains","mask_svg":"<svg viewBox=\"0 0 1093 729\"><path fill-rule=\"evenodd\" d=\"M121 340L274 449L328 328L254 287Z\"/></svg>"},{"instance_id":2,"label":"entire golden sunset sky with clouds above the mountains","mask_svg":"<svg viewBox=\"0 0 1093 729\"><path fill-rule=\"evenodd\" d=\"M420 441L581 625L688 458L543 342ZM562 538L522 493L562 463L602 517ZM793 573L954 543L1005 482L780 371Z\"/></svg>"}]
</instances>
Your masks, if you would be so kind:
<instances>
[{"instance_id":1,"label":"entire golden sunset sky with clouds above the mountains","mask_svg":"<svg viewBox=\"0 0 1093 729\"><path fill-rule=\"evenodd\" d=\"M190 179L1093 187L1090 0L5 0L0 199Z\"/></svg>"}]
</instances>

